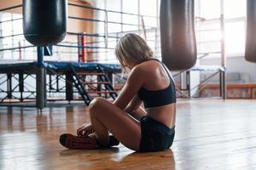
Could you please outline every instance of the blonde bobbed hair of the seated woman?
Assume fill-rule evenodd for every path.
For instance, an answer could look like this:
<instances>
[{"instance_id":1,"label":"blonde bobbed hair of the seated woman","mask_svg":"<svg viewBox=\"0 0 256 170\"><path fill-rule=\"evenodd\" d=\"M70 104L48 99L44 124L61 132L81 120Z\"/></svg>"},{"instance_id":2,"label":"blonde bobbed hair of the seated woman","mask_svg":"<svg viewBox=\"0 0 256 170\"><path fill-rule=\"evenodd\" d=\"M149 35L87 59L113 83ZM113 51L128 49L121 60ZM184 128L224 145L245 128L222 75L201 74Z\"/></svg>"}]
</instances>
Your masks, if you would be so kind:
<instances>
[{"instance_id":1,"label":"blonde bobbed hair of the seated woman","mask_svg":"<svg viewBox=\"0 0 256 170\"><path fill-rule=\"evenodd\" d=\"M134 33L126 34L119 39L115 48L115 55L123 68L129 65L137 65L153 58L153 51L147 42Z\"/></svg>"}]
</instances>

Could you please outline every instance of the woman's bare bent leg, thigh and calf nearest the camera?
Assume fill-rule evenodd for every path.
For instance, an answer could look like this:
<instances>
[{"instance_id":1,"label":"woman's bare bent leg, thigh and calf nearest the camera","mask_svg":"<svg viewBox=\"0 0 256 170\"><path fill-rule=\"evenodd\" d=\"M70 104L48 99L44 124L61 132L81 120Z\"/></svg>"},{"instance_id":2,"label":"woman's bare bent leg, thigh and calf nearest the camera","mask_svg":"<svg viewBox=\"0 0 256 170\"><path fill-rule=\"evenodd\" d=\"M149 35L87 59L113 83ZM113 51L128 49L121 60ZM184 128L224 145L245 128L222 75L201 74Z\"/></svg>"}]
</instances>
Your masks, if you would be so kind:
<instances>
[{"instance_id":1,"label":"woman's bare bent leg, thigh and calf nearest the camera","mask_svg":"<svg viewBox=\"0 0 256 170\"><path fill-rule=\"evenodd\" d=\"M100 144L108 144L108 131L110 131L126 147L139 150L140 122L103 98L93 99L89 111L91 124Z\"/></svg>"}]
</instances>

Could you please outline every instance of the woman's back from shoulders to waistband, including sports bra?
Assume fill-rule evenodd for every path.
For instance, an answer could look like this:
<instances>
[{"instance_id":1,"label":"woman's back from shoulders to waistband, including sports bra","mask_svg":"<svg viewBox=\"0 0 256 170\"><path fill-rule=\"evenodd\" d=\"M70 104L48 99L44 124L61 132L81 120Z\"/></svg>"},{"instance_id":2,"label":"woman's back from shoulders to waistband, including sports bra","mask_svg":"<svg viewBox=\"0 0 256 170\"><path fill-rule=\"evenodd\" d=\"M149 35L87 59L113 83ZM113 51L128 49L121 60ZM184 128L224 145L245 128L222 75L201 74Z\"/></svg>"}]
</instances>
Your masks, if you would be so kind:
<instances>
[{"instance_id":1,"label":"woman's back from shoulders to waistband, including sports bra","mask_svg":"<svg viewBox=\"0 0 256 170\"><path fill-rule=\"evenodd\" d=\"M144 71L143 87L138 96L143 100L148 116L167 127L175 125L176 94L171 73L156 59L150 59L137 67Z\"/></svg>"}]
</instances>

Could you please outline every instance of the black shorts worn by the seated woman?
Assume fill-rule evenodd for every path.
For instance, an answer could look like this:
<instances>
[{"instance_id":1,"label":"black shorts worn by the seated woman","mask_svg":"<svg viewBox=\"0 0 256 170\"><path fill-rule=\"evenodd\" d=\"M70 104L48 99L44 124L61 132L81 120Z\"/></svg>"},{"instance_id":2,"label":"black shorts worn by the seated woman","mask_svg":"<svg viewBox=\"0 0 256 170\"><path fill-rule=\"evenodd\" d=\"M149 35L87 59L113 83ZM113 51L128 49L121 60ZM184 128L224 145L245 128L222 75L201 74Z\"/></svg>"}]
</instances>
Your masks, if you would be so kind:
<instances>
[{"instance_id":1,"label":"black shorts worn by the seated woman","mask_svg":"<svg viewBox=\"0 0 256 170\"><path fill-rule=\"evenodd\" d=\"M167 150L172 146L175 131L165 124L154 120L149 116L143 116L140 120L142 139L140 150L142 152Z\"/></svg>"}]
</instances>

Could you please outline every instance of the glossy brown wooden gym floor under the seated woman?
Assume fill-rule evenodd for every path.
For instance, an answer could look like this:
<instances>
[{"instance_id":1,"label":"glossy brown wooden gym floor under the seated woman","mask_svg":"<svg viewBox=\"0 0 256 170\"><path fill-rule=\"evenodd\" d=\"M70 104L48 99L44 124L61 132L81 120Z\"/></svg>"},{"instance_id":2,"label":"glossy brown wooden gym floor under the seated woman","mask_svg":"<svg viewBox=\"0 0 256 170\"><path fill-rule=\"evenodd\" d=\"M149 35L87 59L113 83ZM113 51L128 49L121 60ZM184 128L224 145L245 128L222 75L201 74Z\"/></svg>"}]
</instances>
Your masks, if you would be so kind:
<instances>
[{"instance_id":1,"label":"glossy brown wooden gym floor under the seated woman","mask_svg":"<svg viewBox=\"0 0 256 170\"><path fill-rule=\"evenodd\" d=\"M256 100L178 101L172 150L66 150L61 133L89 122L83 106L0 107L0 169L256 169Z\"/></svg>"}]
</instances>

